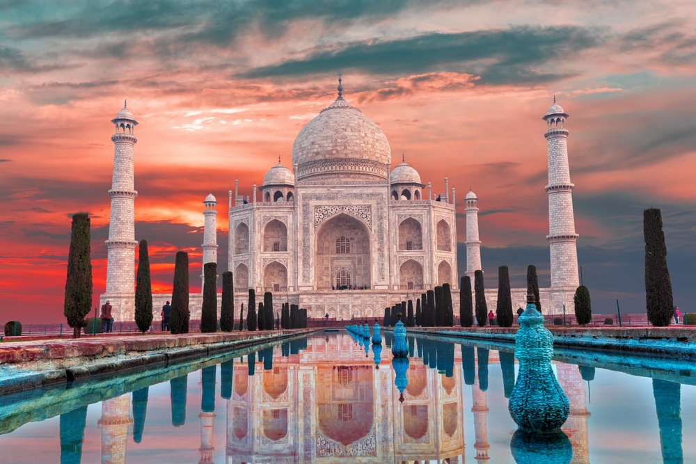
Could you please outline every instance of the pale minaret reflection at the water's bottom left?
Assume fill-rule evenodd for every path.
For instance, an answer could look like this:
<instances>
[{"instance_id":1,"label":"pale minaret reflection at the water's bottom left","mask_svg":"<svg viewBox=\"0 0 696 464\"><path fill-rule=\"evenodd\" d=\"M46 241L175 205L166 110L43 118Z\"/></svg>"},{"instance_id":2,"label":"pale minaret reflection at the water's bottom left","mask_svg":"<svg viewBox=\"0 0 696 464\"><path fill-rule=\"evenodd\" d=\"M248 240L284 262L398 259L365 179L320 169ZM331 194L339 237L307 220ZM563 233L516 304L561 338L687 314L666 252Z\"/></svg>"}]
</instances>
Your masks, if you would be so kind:
<instances>
[{"instance_id":1,"label":"pale minaret reflection at the water's bottom left","mask_svg":"<svg viewBox=\"0 0 696 464\"><path fill-rule=\"evenodd\" d=\"M130 394L102 403L102 418L97 422L102 429L102 464L125 464L128 426L132 423Z\"/></svg>"}]
</instances>

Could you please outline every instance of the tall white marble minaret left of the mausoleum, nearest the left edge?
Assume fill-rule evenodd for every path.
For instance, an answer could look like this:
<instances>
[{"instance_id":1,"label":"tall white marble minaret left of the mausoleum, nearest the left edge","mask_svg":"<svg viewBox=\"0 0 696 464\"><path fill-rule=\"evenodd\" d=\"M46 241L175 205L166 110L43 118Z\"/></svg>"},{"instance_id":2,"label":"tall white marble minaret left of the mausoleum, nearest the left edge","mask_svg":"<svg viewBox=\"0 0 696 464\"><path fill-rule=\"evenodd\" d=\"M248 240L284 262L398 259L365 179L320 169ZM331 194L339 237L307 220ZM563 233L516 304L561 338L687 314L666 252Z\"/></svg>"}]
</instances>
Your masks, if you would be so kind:
<instances>
[{"instance_id":1,"label":"tall white marble minaret left of the mausoleum, nearest the left edge","mask_svg":"<svg viewBox=\"0 0 696 464\"><path fill-rule=\"evenodd\" d=\"M133 184L133 145L138 141L133 135L138 122L123 109L111 120L116 126L113 142L113 177L111 177L111 217L109 240L106 241L106 298L113 306L113 318L122 321L126 311L132 312L135 304L135 208L138 192Z\"/></svg>"}]
</instances>

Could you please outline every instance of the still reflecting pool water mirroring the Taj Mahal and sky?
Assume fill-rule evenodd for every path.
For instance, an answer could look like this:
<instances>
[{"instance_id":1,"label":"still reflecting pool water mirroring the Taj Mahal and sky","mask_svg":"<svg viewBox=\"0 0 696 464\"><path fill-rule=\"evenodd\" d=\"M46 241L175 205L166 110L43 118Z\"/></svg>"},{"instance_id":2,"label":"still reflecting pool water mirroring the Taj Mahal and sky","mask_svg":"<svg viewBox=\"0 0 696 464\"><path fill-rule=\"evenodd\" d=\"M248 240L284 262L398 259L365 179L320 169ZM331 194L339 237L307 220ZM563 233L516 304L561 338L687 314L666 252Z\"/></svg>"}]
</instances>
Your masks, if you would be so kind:
<instances>
[{"instance_id":1,"label":"still reflecting pool water mirroring the Taj Mahal and sky","mask_svg":"<svg viewBox=\"0 0 696 464\"><path fill-rule=\"evenodd\" d=\"M397 372L383 337L381 353L317 333L0 397L0 463L696 463L690 363L557 351L567 453L541 460L511 449L513 345L408 337Z\"/></svg>"}]
</instances>

